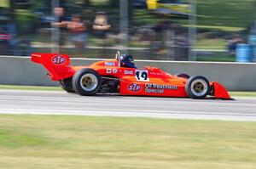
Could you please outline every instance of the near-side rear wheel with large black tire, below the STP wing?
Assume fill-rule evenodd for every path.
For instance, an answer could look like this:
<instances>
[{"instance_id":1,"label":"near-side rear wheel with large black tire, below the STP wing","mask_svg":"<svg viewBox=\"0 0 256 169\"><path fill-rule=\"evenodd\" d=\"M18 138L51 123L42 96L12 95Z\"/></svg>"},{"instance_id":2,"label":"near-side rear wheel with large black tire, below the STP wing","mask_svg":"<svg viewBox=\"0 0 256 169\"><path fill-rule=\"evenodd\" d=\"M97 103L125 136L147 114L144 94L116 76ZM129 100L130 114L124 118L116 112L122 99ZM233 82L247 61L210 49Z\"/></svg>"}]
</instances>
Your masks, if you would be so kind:
<instances>
[{"instance_id":1,"label":"near-side rear wheel with large black tire, below the STP wing","mask_svg":"<svg viewBox=\"0 0 256 169\"><path fill-rule=\"evenodd\" d=\"M77 71L72 80L74 90L82 96L95 95L101 85L102 77L96 70L89 68Z\"/></svg>"}]
</instances>

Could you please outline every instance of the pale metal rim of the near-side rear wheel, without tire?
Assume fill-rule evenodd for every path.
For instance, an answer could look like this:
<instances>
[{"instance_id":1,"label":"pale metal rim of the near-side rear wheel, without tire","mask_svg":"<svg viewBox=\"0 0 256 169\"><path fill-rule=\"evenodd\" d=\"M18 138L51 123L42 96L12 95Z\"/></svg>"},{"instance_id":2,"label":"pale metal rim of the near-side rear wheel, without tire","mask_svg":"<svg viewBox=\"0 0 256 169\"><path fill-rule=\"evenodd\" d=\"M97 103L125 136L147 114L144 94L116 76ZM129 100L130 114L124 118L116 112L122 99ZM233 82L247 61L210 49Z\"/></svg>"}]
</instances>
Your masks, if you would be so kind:
<instances>
[{"instance_id":1,"label":"pale metal rim of the near-side rear wheel, without tire","mask_svg":"<svg viewBox=\"0 0 256 169\"><path fill-rule=\"evenodd\" d=\"M91 92L98 86L98 79L95 75L87 73L82 76L80 80L80 85L86 92Z\"/></svg>"}]
</instances>

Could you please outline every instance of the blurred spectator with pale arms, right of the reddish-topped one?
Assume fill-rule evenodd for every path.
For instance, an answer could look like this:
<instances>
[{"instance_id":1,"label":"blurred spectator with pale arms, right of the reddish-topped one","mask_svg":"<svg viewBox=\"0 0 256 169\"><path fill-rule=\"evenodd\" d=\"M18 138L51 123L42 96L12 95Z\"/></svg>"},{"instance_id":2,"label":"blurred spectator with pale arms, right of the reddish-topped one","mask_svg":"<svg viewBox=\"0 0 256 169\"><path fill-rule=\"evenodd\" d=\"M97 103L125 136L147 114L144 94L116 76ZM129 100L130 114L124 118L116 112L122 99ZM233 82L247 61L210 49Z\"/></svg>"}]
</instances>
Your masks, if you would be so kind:
<instances>
[{"instance_id":1,"label":"blurred spectator with pale arms, right of the reddish-topped one","mask_svg":"<svg viewBox=\"0 0 256 169\"><path fill-rule=\"evenodd\" d=\"M105 12L97 12L92 28L96 36L106 37L111 25L108 24L108 16Z\"/></svg>"}]
</instances>

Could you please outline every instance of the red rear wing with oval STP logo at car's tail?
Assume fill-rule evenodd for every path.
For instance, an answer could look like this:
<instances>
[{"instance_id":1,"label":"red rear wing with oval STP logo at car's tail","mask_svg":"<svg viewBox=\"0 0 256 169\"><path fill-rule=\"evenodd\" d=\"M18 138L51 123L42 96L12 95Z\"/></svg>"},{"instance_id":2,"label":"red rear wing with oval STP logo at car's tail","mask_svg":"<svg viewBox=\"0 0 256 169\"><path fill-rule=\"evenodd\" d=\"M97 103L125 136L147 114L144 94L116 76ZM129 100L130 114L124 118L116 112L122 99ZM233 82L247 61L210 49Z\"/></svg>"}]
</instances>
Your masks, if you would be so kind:
<instances>
[{"instance_id":1,"label":"red rear wing with oval STP logo at car's tail","mask_svg":"<svg viewBox=\"0 0 256 169\"><path fill-rule=\"evenodd\" d=\"M67 54L33 53L31 60L32 62L44 65L53 81L60 81L71 77L75 73L75 70L69 66L70 59Z\"/></svg>"}]
</instances>

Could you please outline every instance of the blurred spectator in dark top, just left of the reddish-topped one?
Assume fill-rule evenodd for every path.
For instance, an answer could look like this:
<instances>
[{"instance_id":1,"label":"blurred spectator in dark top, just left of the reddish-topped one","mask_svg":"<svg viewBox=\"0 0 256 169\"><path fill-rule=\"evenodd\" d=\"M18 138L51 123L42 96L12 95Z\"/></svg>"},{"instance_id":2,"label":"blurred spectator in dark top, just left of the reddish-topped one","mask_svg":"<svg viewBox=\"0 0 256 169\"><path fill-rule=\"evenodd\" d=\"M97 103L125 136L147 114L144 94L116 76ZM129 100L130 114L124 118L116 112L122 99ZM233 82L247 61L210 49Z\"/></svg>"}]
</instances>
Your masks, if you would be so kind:
<instances>
[{"instance_id":1,"label":"blurred spectator in dark top, just left of the reddish-topped one","mask_svg":"<svg viewBox=\"0 0 256 169\"><path fill-rule=\"evenodd\" d=\"M58 42L59 45L65 45L67 41L67 18L65 17L64 8L56 7L55 8L55 21L52 23L57 29L60 29L60 39L55 39L55 42Z\"/></svg>"}]
</instances>

